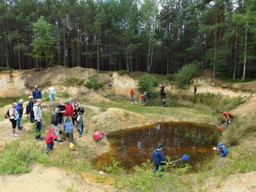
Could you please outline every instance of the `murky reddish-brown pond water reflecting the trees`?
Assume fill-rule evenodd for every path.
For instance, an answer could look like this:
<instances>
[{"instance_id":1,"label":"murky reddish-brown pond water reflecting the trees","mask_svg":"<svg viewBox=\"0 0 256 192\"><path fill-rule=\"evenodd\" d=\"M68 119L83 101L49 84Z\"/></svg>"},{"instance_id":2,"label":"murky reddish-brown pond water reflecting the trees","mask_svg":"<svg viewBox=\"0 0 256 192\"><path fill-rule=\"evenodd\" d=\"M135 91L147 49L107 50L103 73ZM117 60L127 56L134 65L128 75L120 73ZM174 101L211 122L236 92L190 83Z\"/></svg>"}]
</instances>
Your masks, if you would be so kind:
<instances>
[{"instance_id":1,"label":"murky reddish-brown pond water reflecting the trees","mask_svg":"<svg viewBox=\"0 0 256 192\"><path fill-rule=\"evenodd\" d=\"M93 166L96 169L109 166L110 156L113 156L116 161L122 161L120 166L127 171L134 165L142 167L147 159L153 163L152 153L158 143L163 144L164 155L171 156L172 161L187 154L187 161L178 162L193 166L207 155L216 153L212 147L217 145L219 135L220 130L213 125L190 122L156 123L119 130L107 135L109 151L97 156Z\"/></svg>"}]
</instances>

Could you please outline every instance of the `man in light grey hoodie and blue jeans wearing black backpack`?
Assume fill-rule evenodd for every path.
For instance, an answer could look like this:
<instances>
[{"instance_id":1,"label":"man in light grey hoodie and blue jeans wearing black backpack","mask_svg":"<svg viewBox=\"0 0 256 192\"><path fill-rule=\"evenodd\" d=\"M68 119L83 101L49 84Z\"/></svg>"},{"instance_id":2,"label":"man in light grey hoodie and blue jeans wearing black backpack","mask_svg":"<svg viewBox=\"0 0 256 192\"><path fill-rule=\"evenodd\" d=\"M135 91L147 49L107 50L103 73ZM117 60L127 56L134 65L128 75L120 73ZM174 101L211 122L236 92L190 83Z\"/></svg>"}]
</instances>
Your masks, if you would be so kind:
<instances>
[{"instance_id":1,"label":"man in light grey hoodie and blue jeans wearing black backpack","mask_svg":"<svg viewBox=\"0 0 256 192\"><path fill-rule=\"evenodd\" d=\"M41 105L42 101L40 99L36 100L36 104L33 106L34 111L34 119L36 121L36 137L35 140L43 140L41 138L41 131L42 131L42 111L41 111Z\"/></svg>"}]
</instances>

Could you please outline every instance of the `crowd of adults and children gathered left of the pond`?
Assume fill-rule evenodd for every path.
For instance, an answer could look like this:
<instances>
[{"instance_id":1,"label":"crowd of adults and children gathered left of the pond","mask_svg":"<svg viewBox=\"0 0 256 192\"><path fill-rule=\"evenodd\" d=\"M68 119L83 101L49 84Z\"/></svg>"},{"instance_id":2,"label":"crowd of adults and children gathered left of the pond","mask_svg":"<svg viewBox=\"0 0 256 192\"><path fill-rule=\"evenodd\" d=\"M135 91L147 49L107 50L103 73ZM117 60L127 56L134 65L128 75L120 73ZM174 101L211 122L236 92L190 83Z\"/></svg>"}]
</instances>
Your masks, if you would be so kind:
<instances>
[{"instance_id":1,"label":"crowd of adults and children gathered left of the pond","mask_svg":"<svg viewBox=\"0 0 256 192\"><path fill-rule=\"evenodd\" d=\"M52 84L49 84L49 98L50 100L54 99L54 88ZM26 107L26 113L30 113L30 122L36 123L36 135L35 140L43 140L41 137L42 132L42 92L38 89L38 86L35 85L35 89L32 90L32 96L28 97L28 106ZM35 103L34 103L35 101ZM12 136L17 137L18 132L16 131L16 126L19 130L23 130L23 127L20 125L22 115L23 115L23 100L19 100L17 103L12 103L12 108L9 109L10 121L12 123ZM81 107L80 103L78 103L75 99L69 98L66 101L58 104L54 111L51 114L51 128L47 133L45 142L46 142L46 151L45 155L49 155L49 151L54 149L54 141L63 142L60 134L64 132L65 139L68 143L74 143L74 129L73 126L78 127L79 137L82 137L84 127L84 109ZM72 121L72 122L71 122ZM65 122L63 124L63 122ZM63 132L62 132L62 124L63 124ZM95 141L101 142L104 137L104 133L95 129L93 133L93 138ZM76 150L75 148L71 148L71 150Z\"/></svg>"}]
</instances>

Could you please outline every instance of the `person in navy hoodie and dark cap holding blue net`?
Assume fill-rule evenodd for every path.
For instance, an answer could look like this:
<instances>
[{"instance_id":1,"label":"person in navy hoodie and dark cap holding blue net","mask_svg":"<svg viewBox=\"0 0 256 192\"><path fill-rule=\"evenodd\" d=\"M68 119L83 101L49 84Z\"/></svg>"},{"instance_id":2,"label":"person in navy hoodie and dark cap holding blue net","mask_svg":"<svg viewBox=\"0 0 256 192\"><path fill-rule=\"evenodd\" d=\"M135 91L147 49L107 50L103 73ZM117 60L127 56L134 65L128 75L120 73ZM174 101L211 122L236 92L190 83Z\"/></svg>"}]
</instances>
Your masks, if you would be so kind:
<instances>
[{"instance_id":1,"label":"person in navy hoodie and dark cap holding blue net","mask_svg":"<svg viewBox=\"0 0 256 192\"><path fill-rule=\"evenodd\" d=\"M168 165L168 163L162 163L163 161L165 161L164 153L162 152L162 150L163 150L163 144L158 143L157 148L153 151L153 159L155 164L155 169L153 173L156 173L156 171L159 170L160 166ZM159 171L164 172L164 168L162 167L161 170Z\"/></svg>"}]
</instances>

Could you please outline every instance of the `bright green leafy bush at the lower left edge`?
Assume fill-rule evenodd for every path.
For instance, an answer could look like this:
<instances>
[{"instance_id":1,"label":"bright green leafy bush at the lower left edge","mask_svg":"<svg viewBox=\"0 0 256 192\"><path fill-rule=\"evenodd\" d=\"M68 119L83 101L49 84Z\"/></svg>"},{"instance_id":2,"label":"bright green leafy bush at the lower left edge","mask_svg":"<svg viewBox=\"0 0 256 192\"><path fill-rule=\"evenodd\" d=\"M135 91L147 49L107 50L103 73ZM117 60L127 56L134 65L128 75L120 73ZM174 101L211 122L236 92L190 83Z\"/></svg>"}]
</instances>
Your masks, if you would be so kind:
<instances>
[{"instance_id":1,"label":"bright green leafy bush at the lower left edge","mask_svg":"<svg viewBox=\"0 0 256 192\"><path fill-rule=\"evenodd\" d=\"M3 156L0 159L0 174L18 174L30 172L29 166L38 161L42 150L38 149L36 142L26 141L22 144L18 140L12 144L5 144Z\"/></svg>"}]
</instances>

